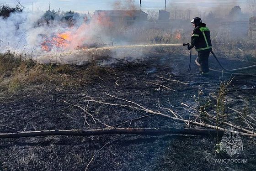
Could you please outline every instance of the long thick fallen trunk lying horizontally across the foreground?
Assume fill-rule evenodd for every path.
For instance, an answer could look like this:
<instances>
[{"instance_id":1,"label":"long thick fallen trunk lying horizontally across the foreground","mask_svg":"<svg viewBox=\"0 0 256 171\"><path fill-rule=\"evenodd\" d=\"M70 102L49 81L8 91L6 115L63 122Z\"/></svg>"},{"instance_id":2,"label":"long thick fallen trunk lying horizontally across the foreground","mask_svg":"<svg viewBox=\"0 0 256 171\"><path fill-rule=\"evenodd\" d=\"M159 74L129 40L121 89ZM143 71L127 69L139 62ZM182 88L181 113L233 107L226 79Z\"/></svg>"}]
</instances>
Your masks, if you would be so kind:
<instances>
[{"instance_id":1,"label":"long thick fallen trunk lying horizontally across the foreground","mask_svg":"<svg viewBox=\"0 0 256 171\"><path fill-rule=\"evenodd\" d=\"M190 123L191 124L191 123ZM234 132L235 134L252 137L252 134L240 133L237 131L225 130ZM42 131L26 131L18 133L0 134L0 139L4 138L21 138L35 136L51 136L51 135L66 135L66 136L91 136L91 135L112 135L112 134L135 134L135 135L202 135L202 136L217 136L223 135L224 130L201 130L192 128L106 128L98 130L42 130Z\"/></svg>"}]
</instances>

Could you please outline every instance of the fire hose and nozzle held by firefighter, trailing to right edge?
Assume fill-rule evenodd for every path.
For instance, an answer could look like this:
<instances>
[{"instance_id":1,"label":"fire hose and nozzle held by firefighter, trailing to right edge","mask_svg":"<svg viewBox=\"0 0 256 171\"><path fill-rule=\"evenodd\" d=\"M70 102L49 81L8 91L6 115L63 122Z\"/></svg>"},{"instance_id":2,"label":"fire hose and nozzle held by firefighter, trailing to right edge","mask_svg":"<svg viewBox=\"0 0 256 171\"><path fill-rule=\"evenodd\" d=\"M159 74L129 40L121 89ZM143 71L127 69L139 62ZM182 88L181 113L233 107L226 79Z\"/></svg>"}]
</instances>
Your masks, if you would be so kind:
<instances>
[{"instance_id":1,"label":"fire hose and nozzle held by firefighter, trailing to right edge","mask_svg":"<svg viewBox=\"0 0 256 171\"><path fill-rule=\"evenodd\" d=\"M188 44L184 43L183 46L187 46ZM244 74L244 73L234 73L237 71L243 71L243 70L247 70L247 69L251 69L251 68L255 68L256 65L251 65L248 67L241 67L241 68L237 68L237 69L227 69L225 68L220 62L218 57L216 57L215 53L213 51L210 51L213 54L213 57L216 59L216 61L219 63L219 66L223 69L222 71L216 70L216 69L212 69L209 68L210 71L213 72L217 72L217 73L226 73L226 74L230 74L230 75L236 75L236 76L246 76L246 77L256 77L256 75L253 74ZM196 58L195 62L198 66L200 66L199 62L197 61L198 57ZM190 51L190 64L189 64L189 71L191 70L191 60L192 60L192 51Z\"/></svg>"}]
</instances>

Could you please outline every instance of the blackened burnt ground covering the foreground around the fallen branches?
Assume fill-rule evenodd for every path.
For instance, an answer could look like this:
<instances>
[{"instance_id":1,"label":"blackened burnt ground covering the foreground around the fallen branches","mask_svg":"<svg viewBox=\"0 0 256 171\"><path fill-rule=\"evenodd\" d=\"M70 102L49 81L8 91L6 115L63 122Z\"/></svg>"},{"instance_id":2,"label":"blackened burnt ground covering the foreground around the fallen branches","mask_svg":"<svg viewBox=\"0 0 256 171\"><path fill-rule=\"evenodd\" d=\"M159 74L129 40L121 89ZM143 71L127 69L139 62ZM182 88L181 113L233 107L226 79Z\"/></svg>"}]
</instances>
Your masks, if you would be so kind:
<instances>
[{"instance_id":1,"label":"blackened burnt ground covering the foreground around the fallen branches","mask_svg":"<svg viewBox=\"0 0 256 171\"><path fill-rule=\"evenodd\" d=\"M54 129L99 129L106 128L90 116L84 124L83 110L69 105L86 108L92 98L111 104L129 104L127 99L147 109L160 111L169 108L179 113L184 119L193 120L193 110L184 108L181 103L198 109L211 100L207 110L216 110L216 98L220 83L230 76L211 73L209 78L196 76L198 67L192 61L192 71L188 72L187 56L150 55L144 60L119 62L101 68L101 73L90 83L79 88L61 88L54 84L23 88L0 103L0 124L6 124L22 131ZM246 66L251 63L222 58L228 68ZM210 66L218 68L213 57ZM85 70L86 66L77 67ZM255 72L254 72L255 73ZM74 76L75 77L75 76ZM89 77L89 76L88 76ZM159 77L178 80L185 83L168 81ZM154 85L157 83L168 88ZM237 124L242 124L240 115L228 107L246 112L254 117L256 109L255 78L235 77L229 85L229 92L224 96L224 113ZM175 90L175 91L173 91ZM199 93L198 93L199 92ZM199 95L198 95L199 94ZM91 97L91 98L90 98ZM169 100L169 101L168 101ZM133 104L130 104L133 105ZM133 105L134 106L134 105ZM122 123L128 119L147 115L144 111L120 106L111 106L89 102L88 112L107 125ZM214 120L209 121L215 125ZM161 116L148 116L117 127L122 128L169 128L187 127ZM197 128L192 126L192 128ZM16 132L0 127L1 133ZM120 138L120 139L119 139ZM116 140L118 139L118 140ZM116 140L103 149L107 142ZM215 163L215 159L230 158L225 154L216 154L217 137L186 135L101 135L89 137L48 136L0 140L0 170L22 171L70 171L85 170L92 156L101 149L88 170L91 171L183 171L183 170L256 170L256 144L251 138L242 137L244 150L233 158L247 159L248 163Z\"/></svg>"}]
</instances>

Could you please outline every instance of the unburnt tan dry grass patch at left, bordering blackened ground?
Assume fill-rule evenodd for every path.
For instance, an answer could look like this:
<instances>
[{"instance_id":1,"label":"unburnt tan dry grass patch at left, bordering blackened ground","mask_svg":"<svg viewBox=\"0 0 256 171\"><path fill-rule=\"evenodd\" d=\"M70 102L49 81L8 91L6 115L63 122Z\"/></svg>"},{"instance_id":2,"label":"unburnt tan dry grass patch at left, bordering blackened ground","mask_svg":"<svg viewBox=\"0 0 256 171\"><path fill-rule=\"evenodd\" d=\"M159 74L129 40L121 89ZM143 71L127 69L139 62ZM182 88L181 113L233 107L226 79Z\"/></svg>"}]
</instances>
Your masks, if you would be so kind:
<instances>
[{"instance_id":1,"label":"unburnt tan dry grass patch at left, bordering blackened ground","mask_svg":"<svg viewBox=\"0 0 256 171\"><path fill-rule=\"evenodd\" d=\"M95 62L88 66L40 64L8 52L0 55L0 98L28 87L79 88L105 73L107 69Z\"/></svg>"}]
</instances>

